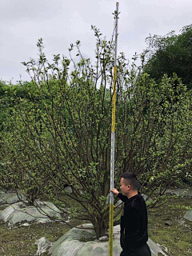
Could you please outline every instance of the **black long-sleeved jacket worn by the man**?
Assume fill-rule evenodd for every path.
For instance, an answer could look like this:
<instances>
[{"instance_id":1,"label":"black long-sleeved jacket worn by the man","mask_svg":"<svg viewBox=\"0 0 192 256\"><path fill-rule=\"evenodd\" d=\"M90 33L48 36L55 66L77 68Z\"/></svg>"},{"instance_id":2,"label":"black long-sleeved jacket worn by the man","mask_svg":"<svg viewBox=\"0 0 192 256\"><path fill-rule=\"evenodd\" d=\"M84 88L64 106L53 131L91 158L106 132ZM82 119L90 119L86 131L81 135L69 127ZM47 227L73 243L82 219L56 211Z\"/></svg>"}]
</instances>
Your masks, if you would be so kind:
<instances>
[{"instance_id":1,"label":"black long-sleeved jacket worn by the man","mask_svg":"<svg viewBox=\"0 0 192 256\"><path fill-rule=\"evenodd\" d=\"M148 240L146 202L140 193L129 199L119 193L118 198L124 202L120 242L122 250L131 252Z\"/></svg>"}]
</instances>

